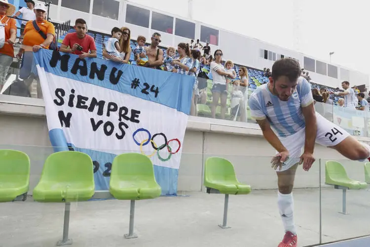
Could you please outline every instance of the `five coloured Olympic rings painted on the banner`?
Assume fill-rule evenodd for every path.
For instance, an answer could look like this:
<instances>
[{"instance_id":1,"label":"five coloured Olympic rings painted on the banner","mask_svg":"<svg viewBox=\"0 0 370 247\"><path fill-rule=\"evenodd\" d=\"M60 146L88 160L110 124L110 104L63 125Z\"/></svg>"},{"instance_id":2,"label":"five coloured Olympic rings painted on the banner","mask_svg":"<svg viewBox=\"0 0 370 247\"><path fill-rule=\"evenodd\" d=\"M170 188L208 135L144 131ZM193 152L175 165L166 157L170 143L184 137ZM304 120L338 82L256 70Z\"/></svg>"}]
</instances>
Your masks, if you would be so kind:
<instances>
[{"instance_id":1,"label":"five coloured Olympic rings painted on the banner","mask_svg":"<svg viewBox=\"0 0 370 247\"><path fill-rule=\"evenodd\" d=\"M146 132L148 134L148 138L147 139L144 139L143 141L141 142L138 142L136 139L135 139L135 135L139 132ZM162 136L164 138L164 143L162 145L160 145L158 147L158 145L155 143L154 141L154 138L156 136ZM135 132L132 134L132 139L134 139L134 142L136 143L136 145L140 146L140 152L143 154L143 155L146 155L143 151L143 146L146 146L148 145L149 143L151 144L151 146L153 147L153 152L150 154L150 155L146 155L147 157L153 157L155 154L157 154L157 157L160 161L169 161L171 159L171 156L178 153L180 151L180 148L181 148L181 142L179 139L177 138L174 138L174 139L171 139L171 140L167 140L167 136L164 134L164 133L156 133L154 134L153 136L150 134L149 130L148 129L145 129L145 128L138 128L137 130L135 130ZM172 152L172 148L170 147L170 143L171 142L177 142L179 144L179 147L176 149L175 152ZM168 157L167 158L163 158L160 156L159 154L159 151L166 148L167 147L167 151L168 151Z\"/></svg>"}]
</instances>

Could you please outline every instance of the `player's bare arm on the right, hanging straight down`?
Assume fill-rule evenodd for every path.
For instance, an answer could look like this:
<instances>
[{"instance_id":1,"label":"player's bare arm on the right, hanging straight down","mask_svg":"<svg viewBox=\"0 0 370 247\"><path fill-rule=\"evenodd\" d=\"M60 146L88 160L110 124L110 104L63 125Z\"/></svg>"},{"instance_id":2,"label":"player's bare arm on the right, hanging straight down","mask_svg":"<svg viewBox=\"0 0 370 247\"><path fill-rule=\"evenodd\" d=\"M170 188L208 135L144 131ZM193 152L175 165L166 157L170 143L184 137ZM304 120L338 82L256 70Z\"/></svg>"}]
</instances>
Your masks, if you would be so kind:
<instances>
[{"instance_id":1,"label":"player's bare arm on the right, hanging straight down","mask_svg":"<svg viewBox=\"0 0 370 247\"><path fill-rule=\"evenodd\" d=\"M316 114L313 103L306 107L302 107L302 114L304 116L304 121L306 123L305 127L305 140L304 140L304 152L300 156L299 164L303 163L303 169L308 171L312 164L315 162L313 157L313 150L315 147L317 123Z\"/></svg>"}]
</instances>

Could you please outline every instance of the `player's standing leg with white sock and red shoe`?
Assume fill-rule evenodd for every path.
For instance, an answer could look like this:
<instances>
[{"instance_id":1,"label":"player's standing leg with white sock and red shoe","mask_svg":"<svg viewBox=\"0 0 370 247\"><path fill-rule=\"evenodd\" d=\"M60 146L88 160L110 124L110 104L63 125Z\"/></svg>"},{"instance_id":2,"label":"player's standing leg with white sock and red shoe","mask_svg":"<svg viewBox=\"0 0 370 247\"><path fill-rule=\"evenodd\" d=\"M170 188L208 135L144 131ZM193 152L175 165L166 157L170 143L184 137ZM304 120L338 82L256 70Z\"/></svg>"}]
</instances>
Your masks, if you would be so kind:
<instances>
[{"instance_id":1,"label":"player's standing leg with white sock and red shoe","mask_svg":"<svg viewBox=\"0 0 370 247\"><path fill-rule=\"evenodd\" d=\"M277 171L278 176L278 207L283 221L285 236L279 247L296 247L297 236L294 224L294 201L293 185L296 176L297 165L293 165L287 170Z\"/></svg>"}]
</instances>

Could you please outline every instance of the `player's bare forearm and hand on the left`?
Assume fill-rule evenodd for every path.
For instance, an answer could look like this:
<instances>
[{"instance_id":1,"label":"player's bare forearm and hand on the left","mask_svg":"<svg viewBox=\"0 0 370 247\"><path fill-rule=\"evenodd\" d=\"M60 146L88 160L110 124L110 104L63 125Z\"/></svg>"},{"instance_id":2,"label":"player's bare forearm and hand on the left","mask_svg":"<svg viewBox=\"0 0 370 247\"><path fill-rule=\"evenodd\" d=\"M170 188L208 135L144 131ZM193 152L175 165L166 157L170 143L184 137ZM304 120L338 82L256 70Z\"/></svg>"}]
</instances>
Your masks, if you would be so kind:
<instances>
[{"instance_id":1,"label":"player's bare forearm and hand on the left","mask_svg":"<svg viewBox=\"0 0 370 247\"><path fill-rule=\"evenodd\" d=\"M281 143L279 138L276 136L274 131L272 131L270 123L267 119L263 120L256 120L259 124L259 127L262 130L263 137L270 143L270 145L276 149L279 153L274 156L274 158L271 160L271 167L273 167L275 170L280 167L282 167L283 163L289 158L289 152L284 147L284 145Z\"/></svg>"}]
</instances>

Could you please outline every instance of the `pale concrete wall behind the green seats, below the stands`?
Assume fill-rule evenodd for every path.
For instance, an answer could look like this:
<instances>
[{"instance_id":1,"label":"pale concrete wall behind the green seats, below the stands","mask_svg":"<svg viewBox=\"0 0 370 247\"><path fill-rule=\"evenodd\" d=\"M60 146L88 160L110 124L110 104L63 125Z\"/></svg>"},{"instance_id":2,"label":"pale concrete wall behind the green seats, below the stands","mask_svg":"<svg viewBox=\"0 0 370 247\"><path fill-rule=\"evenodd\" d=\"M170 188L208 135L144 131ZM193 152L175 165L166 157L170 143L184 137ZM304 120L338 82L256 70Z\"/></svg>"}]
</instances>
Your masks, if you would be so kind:
<instances>
[{"instance_id":1,"label":"pale concrete wall behind the green seats, below the stands","mask_svg":"<svg viewBox=\"0 0 370 247\"><path fill-rule=\"evenodd\" d=\"M194 121L196 120L196 121ZM219 131L200 130L202 125ZM235 166L240 182L252 185L253 189L274 189L277 179L270 167L270 157L274 150L259 134L247 135L249 128L218 125L217 120L191 118L185 133L183 154L179 171L179 192L200 191L202 189L203 165L211 156L228 159ZM49 142L45 117L0 114L0 148L17 149L26 152L31 159L30 191L36 186L43 163L53 153ZM213 127L212 127L213 126ZM206 128L204 128L206 129ZM236 130L235 130L236 129ZM237 133L238 130L240 133ZM344 157L334 150L317 145L315 157L321 161L321 181L325 182L326 159L342 160ZM360 162L342 161L349 176L364 181L364 168ZM301 167L297 170L296 187L319 186L319 161L309 172Z\"/></svg>"}]
</instances>

